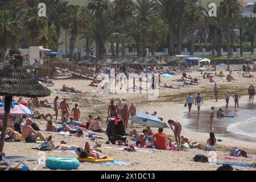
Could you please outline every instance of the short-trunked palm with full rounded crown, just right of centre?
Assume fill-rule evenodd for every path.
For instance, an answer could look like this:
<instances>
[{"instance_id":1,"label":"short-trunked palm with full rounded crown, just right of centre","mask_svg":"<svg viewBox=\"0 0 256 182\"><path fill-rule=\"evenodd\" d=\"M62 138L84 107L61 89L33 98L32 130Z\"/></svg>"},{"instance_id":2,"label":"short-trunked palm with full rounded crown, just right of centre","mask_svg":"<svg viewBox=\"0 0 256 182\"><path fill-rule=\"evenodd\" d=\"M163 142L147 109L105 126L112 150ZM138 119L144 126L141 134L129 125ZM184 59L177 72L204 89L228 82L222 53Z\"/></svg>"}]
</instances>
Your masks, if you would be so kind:
<instances>
[{"instance_id":1,"label":"short-trunked palm with full rounded crown, just right of centre","mask_svg":"<svg viewBox=\"0 0 256 182\"><path fill-rule=\"evenodd\" d=\"M152 16L147 23L146 35L151 43L151 53L155 57L156 46L167 36L168 26L158 16Z\"/></svg>"}]
</instances>

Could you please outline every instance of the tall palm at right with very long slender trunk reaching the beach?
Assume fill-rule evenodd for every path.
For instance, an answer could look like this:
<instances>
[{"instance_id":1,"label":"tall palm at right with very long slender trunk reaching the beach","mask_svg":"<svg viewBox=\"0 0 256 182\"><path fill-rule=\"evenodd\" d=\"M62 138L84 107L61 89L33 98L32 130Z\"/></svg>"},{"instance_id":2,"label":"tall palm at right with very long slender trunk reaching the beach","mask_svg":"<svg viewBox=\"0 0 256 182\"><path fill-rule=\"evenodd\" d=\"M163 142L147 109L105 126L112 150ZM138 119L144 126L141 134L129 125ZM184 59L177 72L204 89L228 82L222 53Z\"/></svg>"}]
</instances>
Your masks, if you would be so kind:
<instances>
[{"instance_id":1,"label":"tall palm at right with very long slender trunk reaching the beach","mask_svg":"<svg viewBox=\"0 0 256 182\"><path fill-rule=\"evenodd\" d=\"M237 0L224 0L220 3L220 9L222 13L228 18L229 22L229 30L227 34L227 43L228 43L228 70L229 70L229 56L230 56L230 34L231 34L231 21L234 19L234 16L236 16L239 13L240 10L240 3Z\"/></svg>"}]
</instances>

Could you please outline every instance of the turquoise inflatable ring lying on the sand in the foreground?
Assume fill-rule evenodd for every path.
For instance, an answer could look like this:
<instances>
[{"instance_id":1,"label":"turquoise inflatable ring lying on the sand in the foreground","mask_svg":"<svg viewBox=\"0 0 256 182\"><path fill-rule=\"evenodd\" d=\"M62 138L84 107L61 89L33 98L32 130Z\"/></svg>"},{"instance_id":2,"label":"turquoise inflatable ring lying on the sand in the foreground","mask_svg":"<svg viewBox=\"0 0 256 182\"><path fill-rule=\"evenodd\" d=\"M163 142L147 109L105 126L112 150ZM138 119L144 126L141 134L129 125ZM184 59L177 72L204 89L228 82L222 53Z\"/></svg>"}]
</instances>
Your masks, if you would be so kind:
<instances>
[{"instance_id":1,"label":"turquoise inflatable ring lying on the sand in the foreground","mask_svg":"<svg viewBox=\"0 0 256 182\"><path fill-rule=\"evenodd\" d=\"M47 158L46 167L49 169L77 169L80 166L76 158Z\"/></svg>"}]
</instances>

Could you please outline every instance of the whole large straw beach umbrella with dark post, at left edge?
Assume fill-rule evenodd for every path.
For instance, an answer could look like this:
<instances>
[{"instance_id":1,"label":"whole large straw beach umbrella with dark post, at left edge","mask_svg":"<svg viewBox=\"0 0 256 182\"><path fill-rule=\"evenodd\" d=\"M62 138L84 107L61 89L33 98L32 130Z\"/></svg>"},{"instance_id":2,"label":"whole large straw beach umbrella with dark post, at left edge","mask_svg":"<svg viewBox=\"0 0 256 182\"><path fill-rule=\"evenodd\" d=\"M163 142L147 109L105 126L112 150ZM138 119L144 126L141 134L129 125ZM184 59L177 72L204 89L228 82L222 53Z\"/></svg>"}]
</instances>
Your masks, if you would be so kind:
<instances>
[{"instance_id":1,"label":"whole large straw beach umbrella with dark post, at left edge","mask_svg":"<svg viewBox=\"0 0 256 182\"><path fill-rule=\"evenodd\" d=\"M51 90L40 85L35 78L22 66L22 56L16 56L0 71L0 95L5 96L5 115L0 140L0 152L3 152L7 122L14 96L18 97L46 97Z\"/></svg>"}]
</instances>

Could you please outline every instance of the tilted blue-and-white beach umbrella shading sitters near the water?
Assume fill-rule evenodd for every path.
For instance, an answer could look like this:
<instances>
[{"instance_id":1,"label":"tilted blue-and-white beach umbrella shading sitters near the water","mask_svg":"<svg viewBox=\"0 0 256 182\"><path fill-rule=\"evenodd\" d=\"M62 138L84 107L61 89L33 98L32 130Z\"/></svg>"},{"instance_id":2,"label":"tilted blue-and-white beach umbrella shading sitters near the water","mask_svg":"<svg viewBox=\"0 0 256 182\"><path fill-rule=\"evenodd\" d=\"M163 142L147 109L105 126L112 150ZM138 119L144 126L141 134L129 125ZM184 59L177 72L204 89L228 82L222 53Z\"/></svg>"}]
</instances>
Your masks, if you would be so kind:
<instances>
[{"instance_id":1,"label":"tilted blue-and-white beach umbrella shading sitters near the water","mask_svg":"<svg viewBox=\"0 0 256 182\"><path fill-rule=\"evenodd\" d=\"M138 114L134 117L131 117L131 121L143 126L150 126L150 127L164 127L164 123L151 114Z\"/></svg>"}]
</instances>

